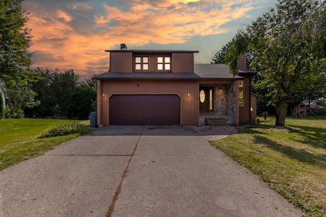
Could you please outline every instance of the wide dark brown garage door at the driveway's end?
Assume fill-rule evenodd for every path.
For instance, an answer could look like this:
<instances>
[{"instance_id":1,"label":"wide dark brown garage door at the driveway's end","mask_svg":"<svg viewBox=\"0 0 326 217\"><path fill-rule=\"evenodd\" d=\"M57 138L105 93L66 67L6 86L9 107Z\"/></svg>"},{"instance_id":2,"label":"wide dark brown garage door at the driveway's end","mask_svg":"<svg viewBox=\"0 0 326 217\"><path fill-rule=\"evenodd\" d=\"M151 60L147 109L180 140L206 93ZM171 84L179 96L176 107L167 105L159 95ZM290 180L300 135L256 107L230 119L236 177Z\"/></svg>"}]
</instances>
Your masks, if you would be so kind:
<instances>
[{"instance_id":1,"label":"wide dark brown garage door at the driveway's end","mask_svg":"<svg viewBox=\"0 0 326 217\"><path fill-rule=\"evenodd\" d=\"M177 95L113 95L110 125L179 125Z\"/></svg>"}]
</instances>

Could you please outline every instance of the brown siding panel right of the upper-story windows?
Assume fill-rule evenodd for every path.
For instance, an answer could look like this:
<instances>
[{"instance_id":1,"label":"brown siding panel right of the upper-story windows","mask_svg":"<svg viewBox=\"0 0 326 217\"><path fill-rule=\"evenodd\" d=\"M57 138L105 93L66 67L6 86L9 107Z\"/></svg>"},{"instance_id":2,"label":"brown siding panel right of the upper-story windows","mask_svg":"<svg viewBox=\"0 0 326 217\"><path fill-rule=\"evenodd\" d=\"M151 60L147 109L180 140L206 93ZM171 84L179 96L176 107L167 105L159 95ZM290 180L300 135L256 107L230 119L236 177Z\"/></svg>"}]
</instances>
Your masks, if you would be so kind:
<instances>
[{"instance_id":1,"label":"brown siding panel right of the upper-story windows","mask_svg":"<svg viewBox=\"0 0 326 217\"><path fill-rule=\"evenodd\" d=\"M194 72L194 53L172 53L172 72Z\"/></svg>"}]
</instances>

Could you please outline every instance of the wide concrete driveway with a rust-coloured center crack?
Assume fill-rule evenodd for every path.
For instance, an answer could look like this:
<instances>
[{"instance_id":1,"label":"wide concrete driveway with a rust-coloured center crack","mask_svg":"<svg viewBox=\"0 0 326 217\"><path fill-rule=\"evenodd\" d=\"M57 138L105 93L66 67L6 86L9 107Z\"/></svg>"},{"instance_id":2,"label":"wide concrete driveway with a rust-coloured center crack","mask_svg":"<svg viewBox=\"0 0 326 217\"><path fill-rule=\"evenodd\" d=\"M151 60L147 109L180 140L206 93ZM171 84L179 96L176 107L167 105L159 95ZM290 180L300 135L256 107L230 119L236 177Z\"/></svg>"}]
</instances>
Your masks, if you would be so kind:
<instances>
[{"instance_id":1,"label":"wide concrete driveway with a rust-coloured center crack","mask_svg":"<svg viewBox=\"0 0 326 217\"><path fill-rule=\"evenodd\" d=\"M1 171L0 216L302 216L206 136L96 129Z\"/></svg>"}]
</instances>

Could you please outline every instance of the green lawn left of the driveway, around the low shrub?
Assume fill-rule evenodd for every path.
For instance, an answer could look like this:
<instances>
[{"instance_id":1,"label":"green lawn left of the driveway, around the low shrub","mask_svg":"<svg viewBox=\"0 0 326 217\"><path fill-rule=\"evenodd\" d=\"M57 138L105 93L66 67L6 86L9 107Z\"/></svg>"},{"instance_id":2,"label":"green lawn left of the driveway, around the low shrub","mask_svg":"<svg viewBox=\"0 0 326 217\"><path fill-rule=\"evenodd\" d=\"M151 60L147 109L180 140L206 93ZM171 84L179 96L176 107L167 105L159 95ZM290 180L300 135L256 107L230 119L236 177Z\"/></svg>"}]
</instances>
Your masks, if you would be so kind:
<instances>
[{"instance_id":1,"label":"green lawn left of the driveway, around the low shrub","mask_svg":"<svg viewBox=\"0 0 326 217\"><path fill-rule=\"evenodd\" d=\"M87 124L88 121L77 121ZM58 126L76 125L74 120L58 119L1 119L0 120L0 170L18 162L39 156L81 134L90 132L62 133L60 136L39 138Z\"/></svg>"}]
</instances>

